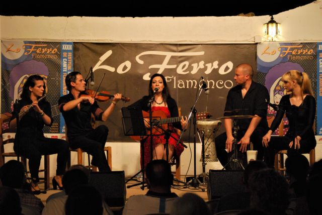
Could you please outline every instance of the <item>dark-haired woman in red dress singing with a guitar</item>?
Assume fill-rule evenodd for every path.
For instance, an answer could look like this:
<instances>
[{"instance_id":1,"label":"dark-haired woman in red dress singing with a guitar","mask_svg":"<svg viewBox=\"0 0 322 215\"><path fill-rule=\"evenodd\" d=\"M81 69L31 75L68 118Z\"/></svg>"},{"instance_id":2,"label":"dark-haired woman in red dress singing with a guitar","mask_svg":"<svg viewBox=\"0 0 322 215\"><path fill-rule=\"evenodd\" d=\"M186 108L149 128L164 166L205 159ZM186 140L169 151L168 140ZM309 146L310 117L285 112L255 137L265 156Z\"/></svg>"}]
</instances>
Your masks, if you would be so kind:
<instances>
[{"instance_id":1,"label":"dark-haired woman in red dress singing with a guitar","mask_svg":"<svg viewBox=\"0 0 322 215\"><path fill-rule=\"evenodd\" d=\"M156 90L157 89L157 90ZM143 96L143 98L139 99L135 103L131 104L130 106L137 106L142 111L149 111L148 101L153 96L154 93L154 100L151 105L151 111L162 111L166 114L167 118L170 117L178 117L178 106L175 101L170 95L169 88L167 85L166 78L162 74L154 74L152 75L149 83L148 89L149 95ZM148 128L149 123L146 122L145 119L145 126ZM171 132L171 136L179 139L179 135L175 132L174 128L182 130L187 123L187 117L181 117L180 122L169 124L169 130ZM170 136L169 139L169 160L176 154L177 157L181 155L184 148L181 144L177 145L177 140ZM141 155L144 153L144 166L142 164L142 156L141 156L141 167L146 166L147 163L151 161L150 156L150 136L143 139L141 144L144 144L144 152L141 151ZM153 160L155 159L164 159L167 160L166 155L166 140L165 135L158 135L152 136L152 147L153 147ZM142 147L141 147L142 149Z\"/></svg>"}]
</instances>

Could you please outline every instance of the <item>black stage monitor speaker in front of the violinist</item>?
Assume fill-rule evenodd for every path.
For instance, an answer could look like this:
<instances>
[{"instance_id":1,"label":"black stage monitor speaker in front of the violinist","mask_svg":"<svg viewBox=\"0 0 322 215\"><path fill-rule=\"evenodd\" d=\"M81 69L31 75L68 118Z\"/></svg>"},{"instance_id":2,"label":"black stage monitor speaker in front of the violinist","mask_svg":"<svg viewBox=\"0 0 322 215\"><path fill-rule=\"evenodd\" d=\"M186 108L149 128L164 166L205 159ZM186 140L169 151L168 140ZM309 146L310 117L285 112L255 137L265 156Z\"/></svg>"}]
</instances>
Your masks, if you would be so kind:
<instances>
[{"instance_id":1,"label":"black stage monitor speaker in front of the violinist","mask_svg":"<svg viewBox=\"0 0 322 215\"><path fill-rule=\"evenodd\" d=\"M124 206L126 198L124 171L91 172L89 184L101 192L110 207Z\"/></svg>"}]
</instances>

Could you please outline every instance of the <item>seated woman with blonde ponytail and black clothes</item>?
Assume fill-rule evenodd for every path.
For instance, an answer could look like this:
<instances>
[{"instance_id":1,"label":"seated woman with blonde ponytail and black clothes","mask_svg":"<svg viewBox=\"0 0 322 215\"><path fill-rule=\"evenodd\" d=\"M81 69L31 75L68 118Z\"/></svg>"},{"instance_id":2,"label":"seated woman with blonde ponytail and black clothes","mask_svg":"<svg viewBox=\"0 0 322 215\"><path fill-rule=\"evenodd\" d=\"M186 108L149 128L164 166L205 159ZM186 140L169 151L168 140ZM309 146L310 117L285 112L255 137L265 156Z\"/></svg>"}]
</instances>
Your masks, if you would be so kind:
<instances>
[{"instance_id":1,"label":"seated woman with blonde ponytail and black clothes","mask_svg":"<svg viewBox=\"0 0 322 215\"><path fill-rule=\"evenodd\" d=\"M290 70L282 75L282 81L289 94L281 98L276 117L262 142L267 148L264 159L269 167L274 167L274 156L279 150L287 149L289 156L309 153L316 146L312 128L316 101L308 75L305 72ZM284 137L271 137L284 114L289 121L289 130Z\"/></svg>"}]
</instances>

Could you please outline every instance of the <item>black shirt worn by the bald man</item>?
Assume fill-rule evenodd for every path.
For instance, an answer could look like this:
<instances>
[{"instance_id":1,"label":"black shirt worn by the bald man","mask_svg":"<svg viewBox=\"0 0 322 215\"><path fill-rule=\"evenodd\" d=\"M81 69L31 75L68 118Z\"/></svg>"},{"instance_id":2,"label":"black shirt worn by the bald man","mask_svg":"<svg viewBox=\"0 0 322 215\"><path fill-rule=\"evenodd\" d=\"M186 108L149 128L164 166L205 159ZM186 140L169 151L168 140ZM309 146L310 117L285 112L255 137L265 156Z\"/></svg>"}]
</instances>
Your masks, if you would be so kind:
<instances>
[{"instance_id":1,"label":"black shirt worn by the bald man","mask_svg":"<svg viewBox=\"0 0 322 215\"><path fill-rule=\"evenodd\" d=\"M241 85L231 88L227 95L224 116L233 115L258 115L262 118L258 127L268 128L266 119L267 115L267 101L269 101L269 94L265 86L252 81L250 88L243 98L241 94ZM237 113L231 113L235 109L243 109ZM251 119L237 120L237 125L240 131L246 131L251 123Z\"/></svg>"}]
</instances>

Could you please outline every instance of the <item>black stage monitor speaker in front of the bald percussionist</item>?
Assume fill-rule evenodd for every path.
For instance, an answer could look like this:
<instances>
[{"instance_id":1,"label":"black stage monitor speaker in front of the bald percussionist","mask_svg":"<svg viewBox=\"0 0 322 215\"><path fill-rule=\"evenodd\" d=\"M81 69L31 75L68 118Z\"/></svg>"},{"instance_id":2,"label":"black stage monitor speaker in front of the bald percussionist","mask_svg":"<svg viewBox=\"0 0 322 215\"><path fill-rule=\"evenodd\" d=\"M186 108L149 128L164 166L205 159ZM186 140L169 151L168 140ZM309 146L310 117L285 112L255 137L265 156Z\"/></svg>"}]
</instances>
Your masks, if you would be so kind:
<instances>
[{"instance_id":1,"label":"black stage monitor speaker in front of the bald percussionist","mask_svg":"<svg viewBox=\"0 0 322 215\"><path fill-rule=\"evenodd\" d=\"M243 171L209 170L207 185L208 200L244 191L245 185L243 184Z\"/></svg>"}]
</instances>

